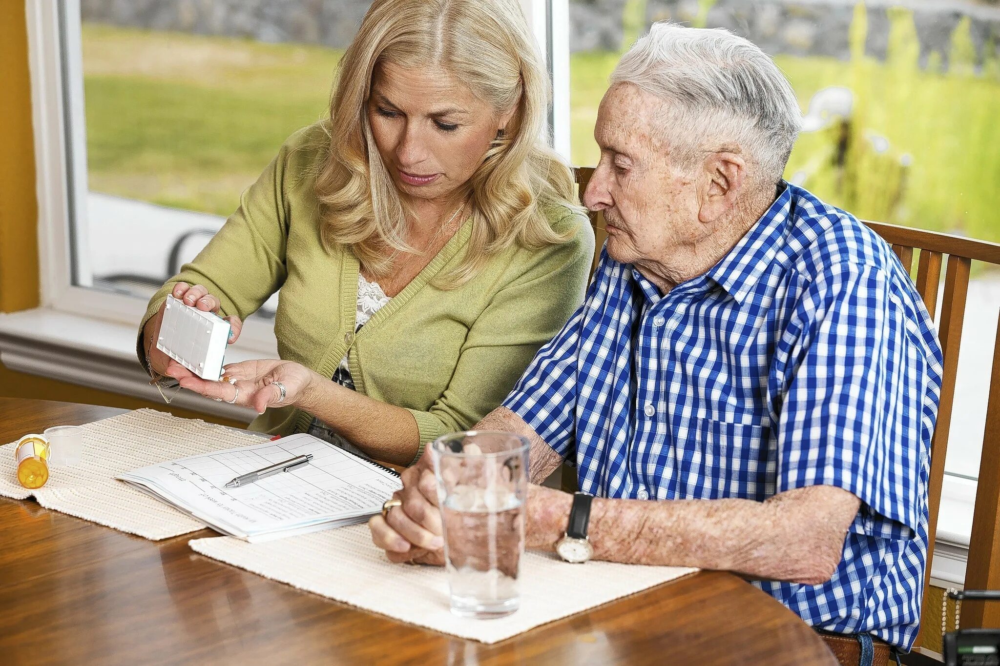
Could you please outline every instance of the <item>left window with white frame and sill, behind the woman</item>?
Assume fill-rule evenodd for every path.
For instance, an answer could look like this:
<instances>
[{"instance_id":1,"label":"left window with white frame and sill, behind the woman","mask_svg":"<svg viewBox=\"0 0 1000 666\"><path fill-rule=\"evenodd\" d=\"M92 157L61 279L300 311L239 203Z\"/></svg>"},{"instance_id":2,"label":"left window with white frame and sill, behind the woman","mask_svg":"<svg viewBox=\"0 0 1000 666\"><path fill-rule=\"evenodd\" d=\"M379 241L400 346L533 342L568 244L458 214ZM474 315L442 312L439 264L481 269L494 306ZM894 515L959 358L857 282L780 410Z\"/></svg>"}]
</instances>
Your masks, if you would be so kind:
<instances>
[{"instance_id":1,"label":"left window with white frame and sill, behind the woman","mask_svg":"<svg viewBox=\"0 0 1000 666\"><path fill-rule=\"evenodd\" d=\"M550 3L519 1L551 55ZM282 142L325 115L371 0L25 2L43 307L0 316L0 357L159 400L134 350L149 296ZM277 354L275 305L249 319L228 359ZM175 404L249 415L186 392Z\"/></svg>"}]
</instances>

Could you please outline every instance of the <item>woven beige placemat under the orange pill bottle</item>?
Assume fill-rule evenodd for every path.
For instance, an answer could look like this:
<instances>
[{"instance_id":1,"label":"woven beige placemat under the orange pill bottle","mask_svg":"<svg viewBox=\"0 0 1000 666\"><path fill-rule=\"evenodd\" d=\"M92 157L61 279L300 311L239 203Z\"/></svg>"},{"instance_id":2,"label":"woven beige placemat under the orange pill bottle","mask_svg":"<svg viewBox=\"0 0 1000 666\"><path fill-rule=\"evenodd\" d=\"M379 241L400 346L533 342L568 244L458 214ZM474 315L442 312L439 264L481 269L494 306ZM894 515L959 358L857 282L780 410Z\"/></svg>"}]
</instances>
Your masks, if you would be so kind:
<instances>
[{"instance_id":1,"label":"woven beige placemat under the orange pill bottle","mask_svg":"<svg viewBox=\"0 0 1000 666\"><path fill-rule=\"evenodd\" d=\"M37 490L17 482L16 442L0 446L0 495L34 496L46 508L147 539L165 539L205 525L115 476L164 460L261 442L258 435L155 409L129 411L83 429L83 460L72 467L52 467L48 482Z\"/></svg>"}]
</instances>

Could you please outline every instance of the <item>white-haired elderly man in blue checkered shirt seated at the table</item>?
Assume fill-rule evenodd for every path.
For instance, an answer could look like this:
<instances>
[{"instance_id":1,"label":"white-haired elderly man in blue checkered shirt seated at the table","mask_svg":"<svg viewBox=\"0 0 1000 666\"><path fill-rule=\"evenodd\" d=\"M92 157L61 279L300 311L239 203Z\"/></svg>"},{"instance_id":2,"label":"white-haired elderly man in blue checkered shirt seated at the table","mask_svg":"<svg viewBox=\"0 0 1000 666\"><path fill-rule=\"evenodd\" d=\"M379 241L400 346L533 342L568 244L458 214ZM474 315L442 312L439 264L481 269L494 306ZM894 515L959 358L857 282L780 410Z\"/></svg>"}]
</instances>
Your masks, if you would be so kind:
<instances>
[{"instance_id":1,"label":"white-haired elderly man in blue checkered shirt seated at the table","mask_svg":"<svg viewBox=\"0 0 1000 666\"><path fill-rule=\"evenodd\" d=\"M585 495L532 486L528 546L735 571L844 663L908 650L941 352L907 272L781 180L800 112L750 42L658 24L611 84L586 302L478 426L529 437L534 482L576 463ZM440 563L433 474L404 481L375 543Z\"/></svg>"}]
</instances>

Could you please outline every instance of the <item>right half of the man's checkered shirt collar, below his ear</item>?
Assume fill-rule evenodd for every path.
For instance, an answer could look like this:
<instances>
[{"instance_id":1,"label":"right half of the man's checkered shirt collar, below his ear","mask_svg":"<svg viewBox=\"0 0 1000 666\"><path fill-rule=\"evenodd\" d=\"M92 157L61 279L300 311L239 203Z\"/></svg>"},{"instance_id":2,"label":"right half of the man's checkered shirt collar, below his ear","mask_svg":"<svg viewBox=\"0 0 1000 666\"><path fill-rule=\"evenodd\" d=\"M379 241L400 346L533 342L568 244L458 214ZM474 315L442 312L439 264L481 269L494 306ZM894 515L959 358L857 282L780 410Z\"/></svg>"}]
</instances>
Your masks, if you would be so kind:
<instances>
[{"instance_id":1,"label":"right half of the man's checkered shirt collar, below his ear","mask_svg":"<svg viewBox=\"0 0 1000 666\"><path fill-rule=\"evenodd\" d=\"M781 192L750 231L704 275L741 306L770 266L792 210L792 188L781 182Z\"/></svg>"}]
</instances>

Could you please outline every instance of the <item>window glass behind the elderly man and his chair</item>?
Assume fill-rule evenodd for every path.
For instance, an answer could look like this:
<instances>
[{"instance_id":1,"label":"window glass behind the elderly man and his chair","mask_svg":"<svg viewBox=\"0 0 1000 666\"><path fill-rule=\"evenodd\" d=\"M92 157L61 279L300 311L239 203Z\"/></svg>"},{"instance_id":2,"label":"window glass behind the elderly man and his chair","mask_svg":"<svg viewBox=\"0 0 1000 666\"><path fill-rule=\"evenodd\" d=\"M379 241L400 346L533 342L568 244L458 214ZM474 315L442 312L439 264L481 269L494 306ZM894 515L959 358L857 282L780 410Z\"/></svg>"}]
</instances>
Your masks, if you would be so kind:
<instances>
[{"instance_id":1,"label":"window glass behind the elderly man and his chair","mask_svg":"<svg viewBox=\"0 0 1000 666\"><path fill-rule=\"evenodd\" d=\"M906 6L904 6L904 4ZM785 177L855 215L1000 241L1000 9L927 3L570 0L571 156L593 165L597 107L652 21L724 27L772 55L804 131ZM947 470L979 469L1000 276L974 267Z\"/></svg>"}]
</instances>

